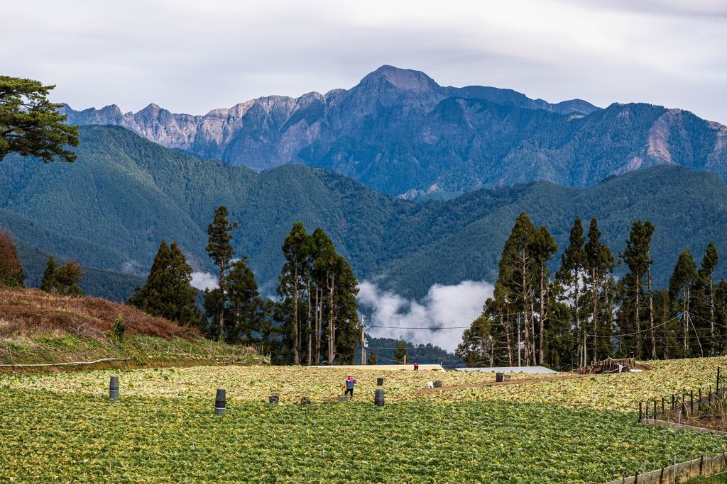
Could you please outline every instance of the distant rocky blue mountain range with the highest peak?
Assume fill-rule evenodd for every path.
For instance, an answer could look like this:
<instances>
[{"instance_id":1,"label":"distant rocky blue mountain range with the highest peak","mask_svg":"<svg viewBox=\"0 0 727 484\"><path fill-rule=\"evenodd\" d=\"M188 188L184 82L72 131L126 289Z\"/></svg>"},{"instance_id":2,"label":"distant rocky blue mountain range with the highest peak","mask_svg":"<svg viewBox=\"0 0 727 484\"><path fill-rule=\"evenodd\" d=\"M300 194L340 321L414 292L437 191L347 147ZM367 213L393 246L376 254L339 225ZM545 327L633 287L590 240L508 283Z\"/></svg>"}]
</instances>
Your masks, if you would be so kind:
<instances>
[{"instance_id":1,"label":"distant rocky blue mountain range with the highest peak","mask_svg":"<svg viewBox=\"0 0 727 484\"><path fill-rule=\"evenodd\" d=\"M446 198L535 180L593 186L654 165L727 176L727 127L651 104L550 104L510 89L439 86L382 66L351 89L270 96L206 115L150 104L137 113L62 111L68 123L122 126L161 146L256 171L303 164L377 192Z\"/></svg>"}]
</instances>

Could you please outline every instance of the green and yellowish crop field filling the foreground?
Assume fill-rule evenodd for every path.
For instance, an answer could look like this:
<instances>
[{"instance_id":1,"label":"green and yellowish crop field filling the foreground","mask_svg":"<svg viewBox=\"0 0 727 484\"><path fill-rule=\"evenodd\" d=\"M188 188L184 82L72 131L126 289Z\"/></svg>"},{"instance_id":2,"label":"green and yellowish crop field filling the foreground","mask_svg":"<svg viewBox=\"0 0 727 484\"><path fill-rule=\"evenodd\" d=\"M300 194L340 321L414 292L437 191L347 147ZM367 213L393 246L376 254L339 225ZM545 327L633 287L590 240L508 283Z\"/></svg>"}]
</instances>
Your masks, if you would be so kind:
<instances>
[{"instance_id":1,"label":"green and yellowish crop field filling the foreground","mask_svg":"<svg viewBox=\"0 0 727 484\"><path fill-rule=\"evenodd\" d=\"M722 451L724 438L637 424L645 396L706 388L727 358L612 374L416 393L465 372L198 366L0 376L0 475L15 482L603 483ZM524 377L525 375L516 375ZM386 405L373 405L376 377ZM214 417L214 390L228 411ZM270 405L278 394L281 404ZM297 402L308 396L312 403Z\"/></svg>"}]
</instances>

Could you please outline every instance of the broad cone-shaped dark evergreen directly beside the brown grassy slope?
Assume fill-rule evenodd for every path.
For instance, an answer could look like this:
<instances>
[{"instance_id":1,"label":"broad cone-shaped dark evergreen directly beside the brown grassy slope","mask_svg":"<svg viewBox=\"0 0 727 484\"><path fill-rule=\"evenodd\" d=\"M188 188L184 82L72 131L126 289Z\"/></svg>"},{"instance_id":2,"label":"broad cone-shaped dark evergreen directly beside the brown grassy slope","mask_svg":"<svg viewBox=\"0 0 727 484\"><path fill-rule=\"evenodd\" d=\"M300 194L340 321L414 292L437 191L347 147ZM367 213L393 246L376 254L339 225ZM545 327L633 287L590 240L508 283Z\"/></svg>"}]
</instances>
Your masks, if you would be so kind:
<instances>
[{"instance_id":1,"label":"broad cone-shaped dark evergreen directly beside the brown grassy slope","mask_svg":"<svg viewBox=\"0 0 727 484\"><path fill-rule=\"evenodd\" d=\"M129 298L129 304L152 316L198 326L201 313L196 305L197 291L190 282L192 268L177 242L167 246L162 239L146 284Z\"/></svg>"}]
</instances>

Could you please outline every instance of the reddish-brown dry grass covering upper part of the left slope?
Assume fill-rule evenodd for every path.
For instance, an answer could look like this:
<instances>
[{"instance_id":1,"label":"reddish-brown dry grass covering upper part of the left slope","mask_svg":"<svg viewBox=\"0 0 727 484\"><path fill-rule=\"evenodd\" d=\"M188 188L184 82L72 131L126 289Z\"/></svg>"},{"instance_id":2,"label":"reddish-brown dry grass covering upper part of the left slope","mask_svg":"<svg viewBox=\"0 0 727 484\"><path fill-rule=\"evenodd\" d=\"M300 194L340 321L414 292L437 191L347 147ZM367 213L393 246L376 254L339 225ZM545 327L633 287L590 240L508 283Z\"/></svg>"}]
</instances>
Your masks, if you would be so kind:
<instances>
[{"instance_id":1,"label":"reddish-brown dry grass covering upper part of the left slope","mask_svg":"<svg viewBox=\"0 0 727 484\"><path fill-rule=\"evenodd\" d=\"M67 332L80 337L108 341L111 324L124 317L129 334L199 337L192 327L149 316L121 303L101 298L71 298L36 289L0 286L0 338L31 338L40 333Z\"/></svg>"}]
</instances>

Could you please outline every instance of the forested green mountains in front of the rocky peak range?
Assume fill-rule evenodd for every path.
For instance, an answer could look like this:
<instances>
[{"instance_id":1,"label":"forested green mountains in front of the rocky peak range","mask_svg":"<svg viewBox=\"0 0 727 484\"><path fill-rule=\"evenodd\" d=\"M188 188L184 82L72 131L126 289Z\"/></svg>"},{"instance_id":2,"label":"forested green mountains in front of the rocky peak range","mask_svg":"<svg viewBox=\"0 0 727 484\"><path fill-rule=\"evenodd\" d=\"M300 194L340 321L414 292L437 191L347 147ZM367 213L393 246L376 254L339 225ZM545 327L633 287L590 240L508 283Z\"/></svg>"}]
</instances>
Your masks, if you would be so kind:
<instances>
[{"instance_id":1,"label":"forested green mountains in front of the rocky peak range","mask_svg":"<svg viewBox=\"0 0 727 484\"><path fill-rule=\"evenodd\" d=\"M143 282L162 238L176 241L197 271L214 272L204 247L218 205L239 223L237 254L249 256L268 295L295 221L308 231L323 228L360 280L408 298L424 297L433 284L493 282L521 210L545 224L561 250L574 216L585 224L597 216L614 253L623 250L633 221L650 220L656 287L667 285L686 247L699 260L712 240L727 254L725 182L678 166L586 188L533 181L419 203L299 164L256 172L200 160L116 126L85 126L80 134L75 163L45 165L15 155L0 163L0 225L15 235L31 285L52 253L95 274L93 294L125 299ZM718 266L719 276L727 275L726 266Z\"/></svg>"}]
</instances>

